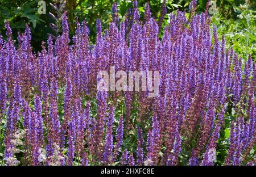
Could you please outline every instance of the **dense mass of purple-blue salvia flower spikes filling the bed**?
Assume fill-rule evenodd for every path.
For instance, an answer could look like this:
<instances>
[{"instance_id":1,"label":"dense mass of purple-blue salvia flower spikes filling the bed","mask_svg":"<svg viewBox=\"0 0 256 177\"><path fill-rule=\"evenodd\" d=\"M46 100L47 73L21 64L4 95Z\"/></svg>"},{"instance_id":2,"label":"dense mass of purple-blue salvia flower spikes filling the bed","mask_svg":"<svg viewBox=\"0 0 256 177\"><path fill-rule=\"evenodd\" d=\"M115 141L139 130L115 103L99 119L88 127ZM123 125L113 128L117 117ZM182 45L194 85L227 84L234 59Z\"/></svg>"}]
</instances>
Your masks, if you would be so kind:
<instances>
[{"instance_id":1,"label":"dense mass of purple-blue salvia flower spikes filling the bed","mask_svg":"<svg viewBox=\"0 0 256 177\"><path fill-rule=\"evenodd\" d=\"M85 22L69 39L48 37L32 53L31 32L0 40L2 164L6 165L253 165L255 164L256 70L225 49L207 10L196 1L151 17L137 1L119 23L114 3L109 28L97 19L96 43ZM162 6L160 16L164 16ZM213 41L212 41L213 39ZM71 44L71 45L69 45ZM97 91L101 70L159 71L159 95L148 91ZM46 153L43 153L44 150ZM217 162L210 158L217 150ZM46 159L44 161L44 156Z\"/></svg>"}]
</instances>

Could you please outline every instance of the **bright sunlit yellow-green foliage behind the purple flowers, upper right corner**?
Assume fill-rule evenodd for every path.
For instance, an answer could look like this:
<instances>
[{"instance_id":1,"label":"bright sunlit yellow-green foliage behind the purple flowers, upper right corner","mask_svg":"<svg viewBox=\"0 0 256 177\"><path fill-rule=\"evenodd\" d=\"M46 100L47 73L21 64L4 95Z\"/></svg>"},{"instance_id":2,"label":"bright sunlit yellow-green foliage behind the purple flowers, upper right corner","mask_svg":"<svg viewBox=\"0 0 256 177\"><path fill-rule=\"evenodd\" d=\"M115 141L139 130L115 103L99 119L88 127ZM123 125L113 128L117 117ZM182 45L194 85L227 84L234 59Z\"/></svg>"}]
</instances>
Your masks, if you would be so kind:
<instances>
[{"instance_id":1,"label":"bright sunlit yellow-green foliage behind the purple flowers, upper right corner","mask_svg":"<svg viewBox=\"0 0 256 177\"><path fill-rule=\"evenodd\" d=\"M247 59L248 54L251 54L256 62L256 9L254 6L249 3L233 5L236 13L234 19L227 19L218 9L212 16L212 23L217 26L220 37L225 35L226 47L233 47L244 60Z\"/></svg>"}]
</instances>

